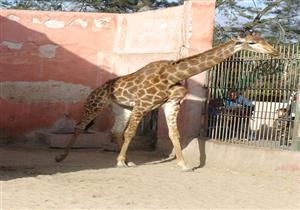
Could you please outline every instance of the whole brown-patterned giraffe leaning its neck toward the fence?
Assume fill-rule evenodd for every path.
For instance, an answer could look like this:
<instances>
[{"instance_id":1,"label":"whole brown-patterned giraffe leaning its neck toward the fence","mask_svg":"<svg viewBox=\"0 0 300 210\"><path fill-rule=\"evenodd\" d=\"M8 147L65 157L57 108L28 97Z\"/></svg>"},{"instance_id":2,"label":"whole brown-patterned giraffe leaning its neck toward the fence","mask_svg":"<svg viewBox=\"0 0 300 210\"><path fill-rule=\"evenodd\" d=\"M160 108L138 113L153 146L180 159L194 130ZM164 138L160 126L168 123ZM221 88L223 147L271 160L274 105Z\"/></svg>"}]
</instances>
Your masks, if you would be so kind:
<instances>
[{"instance_id":1,"label":"whole brown-patterned giraffe leaning its neck toward the fence","mask_svg":"<svg viewBox=\"0 0 300 210\"><path fill-rule=\"evenodd\" d=\"M76 125L75 132L64 153L56 156L56 161L64 160L77 136L103 108L112 105L115 113L112 134L120 151L117 157L117 167L128 167L127 149L140 120L146 113L162 107L177 164L183 171L190 171L191 169L182 156L177 129L180 102L187 94L187 89L180 82L212 68L240 50L250 50L272 56L278 55L277 50L259 34L248 33L244 36L234 37L203 53L176 61L151 62L134 73L107 81L88 96L83 117ZM124 110L124 112L122 113L120 110Z\"/></svg>"}]
</instances>

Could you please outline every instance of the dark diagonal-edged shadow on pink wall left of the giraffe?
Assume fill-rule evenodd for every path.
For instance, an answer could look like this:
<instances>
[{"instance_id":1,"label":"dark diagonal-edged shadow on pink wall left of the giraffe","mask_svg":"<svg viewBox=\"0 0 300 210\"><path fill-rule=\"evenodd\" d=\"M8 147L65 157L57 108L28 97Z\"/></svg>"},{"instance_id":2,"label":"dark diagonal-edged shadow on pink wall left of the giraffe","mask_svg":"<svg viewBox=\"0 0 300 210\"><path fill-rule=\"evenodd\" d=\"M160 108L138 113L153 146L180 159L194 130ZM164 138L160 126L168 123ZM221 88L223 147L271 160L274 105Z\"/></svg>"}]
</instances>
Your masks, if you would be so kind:
<instances>
[{"instance_id":1,"label":"dark diagonal-edged shadow on pink wall left of the giraffe","mask_svg":"<svg viewBox=\"0 0 300 210\"><path fill-rule=\"evenodd\" d=\"M109 67L97 66L87 61L64 46L53 42L46 34L29 29L3 16L0 16L0 23L0 43L2 43L0 45L0 82L2 83L0 87L2 89L0 134L2 138L23 135L40 128L49 128L56 120L62 118L64 113L68 113L76 121L79 120L88 89L91 91L106 80L117 76L109 72ZM22 43L22 46L16 49L13 46L8 47L5 42ZM57 46L56 57L40 56L39 47L42 45ZM5 82L13 83L9 86L11 91L4 90L8 87L5 86ZM27 89L23 92L31 91L30 97L29 95L27 98L26 95L22 96L17 82L25 82L22 87ZM41 84L34 87L29 84L36 82L50 85L46 86L48 88L46 89ZM62 85L59 89L57 86L60 84ZM71 85L81 88L75 92L78 95L72 95L74 92L71 88L68 89ZM42 88L44 92L41 91ZM51 90L55 88L57 92ZM55 93L61 94L61 98L55 98ZM81 100L72 101L76 97ZM97 127L100 130L106 130L111 125L112 120L108 109L97 118Z\"/></svg>"}]
</instances>

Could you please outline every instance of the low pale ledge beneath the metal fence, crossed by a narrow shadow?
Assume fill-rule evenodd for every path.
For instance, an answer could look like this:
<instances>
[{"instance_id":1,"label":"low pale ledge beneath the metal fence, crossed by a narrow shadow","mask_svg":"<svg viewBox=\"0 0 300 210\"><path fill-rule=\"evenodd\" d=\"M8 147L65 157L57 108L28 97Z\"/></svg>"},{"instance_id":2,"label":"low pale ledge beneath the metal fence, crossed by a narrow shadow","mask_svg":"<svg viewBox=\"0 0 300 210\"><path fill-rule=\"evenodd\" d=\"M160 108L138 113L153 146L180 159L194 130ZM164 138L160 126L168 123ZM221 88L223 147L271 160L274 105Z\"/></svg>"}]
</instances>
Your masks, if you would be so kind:
<instances>
[{"instance_id":1,"label":"low pale ledge beneath the metal fence, crossed by a narrow shadow","mask_svg":"<svg viewBox=\"0 0 300 210\"><path fill-rule=\"evenodd\" d=\"M296 151L232 145L198 138L192 139L183 148L183 156L191 167L221 164L235 170L300 172L300 152ZM170 150L164 147L159 151L166 155L166 151Z\"/></svg>"}]
</instances>

